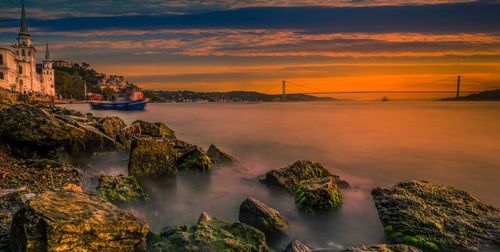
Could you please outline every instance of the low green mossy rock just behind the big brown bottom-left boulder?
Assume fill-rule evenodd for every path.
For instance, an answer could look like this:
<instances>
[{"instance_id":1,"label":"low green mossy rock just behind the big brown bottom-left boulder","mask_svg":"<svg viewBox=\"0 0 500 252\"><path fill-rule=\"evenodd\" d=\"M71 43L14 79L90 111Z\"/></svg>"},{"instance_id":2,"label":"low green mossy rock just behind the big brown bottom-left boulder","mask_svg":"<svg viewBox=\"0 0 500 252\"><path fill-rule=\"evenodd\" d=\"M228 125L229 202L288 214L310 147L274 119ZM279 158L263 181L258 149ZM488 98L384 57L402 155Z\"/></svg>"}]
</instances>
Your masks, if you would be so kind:
<instances>
[{"instance_id":1,"label":"low green mossy rock just behind the big brown bottom-left boulder","mask_svg":"<svg viewBox=\"0 0 500 252\"><path fill-rule=\"evenodd\" d=\"M130 176L101 176L96 188L97 197L115 203L147 201L148 196L137 180Z\"/></svg>"}]
</instances>

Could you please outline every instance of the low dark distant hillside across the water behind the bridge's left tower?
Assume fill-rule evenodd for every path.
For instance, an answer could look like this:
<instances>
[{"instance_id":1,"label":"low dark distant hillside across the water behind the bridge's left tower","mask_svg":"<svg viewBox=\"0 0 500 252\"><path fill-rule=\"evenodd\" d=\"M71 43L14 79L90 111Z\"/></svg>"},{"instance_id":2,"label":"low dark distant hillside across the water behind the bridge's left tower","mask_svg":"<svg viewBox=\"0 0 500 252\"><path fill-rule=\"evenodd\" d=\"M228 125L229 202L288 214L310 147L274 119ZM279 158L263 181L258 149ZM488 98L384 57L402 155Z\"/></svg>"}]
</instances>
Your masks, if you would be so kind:
<instances>
[{"instance_id":1,"label":"low dark distant hillside across the water behind the bridge's left tower","mask_svg":"<svg viewBox=\"0 0 500 252\"><path fill-rule=\"evenodd\" d=\"M193 92L193 91L144 91L146 98L152 102L272 102L281 101L281 95L269 95L249 91L232 92ZM287 101L331 101L330 97L312 95L287 95Z\"/></svg>"}]
</instances>

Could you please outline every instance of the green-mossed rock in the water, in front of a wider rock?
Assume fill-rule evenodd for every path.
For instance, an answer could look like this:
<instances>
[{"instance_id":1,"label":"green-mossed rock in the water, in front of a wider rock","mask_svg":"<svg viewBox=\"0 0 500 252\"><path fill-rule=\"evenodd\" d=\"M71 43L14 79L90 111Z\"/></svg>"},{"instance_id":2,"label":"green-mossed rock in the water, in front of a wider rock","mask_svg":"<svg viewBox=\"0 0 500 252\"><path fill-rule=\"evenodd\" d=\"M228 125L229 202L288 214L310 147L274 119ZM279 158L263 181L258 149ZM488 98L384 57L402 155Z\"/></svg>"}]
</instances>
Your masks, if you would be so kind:
<instances>
[{"instance_id":1,"label":"green-mossed rock in the water, in front of a wider rock","mask_svg":"<svg viewBox=\"0 0 500 252\"><path fill-rule=\"evenodd\" d=\"M342 194L333 177L304 180L295 193L295 204L311 214L326 212L342 205Z\"/></svg>"}]
</instances>

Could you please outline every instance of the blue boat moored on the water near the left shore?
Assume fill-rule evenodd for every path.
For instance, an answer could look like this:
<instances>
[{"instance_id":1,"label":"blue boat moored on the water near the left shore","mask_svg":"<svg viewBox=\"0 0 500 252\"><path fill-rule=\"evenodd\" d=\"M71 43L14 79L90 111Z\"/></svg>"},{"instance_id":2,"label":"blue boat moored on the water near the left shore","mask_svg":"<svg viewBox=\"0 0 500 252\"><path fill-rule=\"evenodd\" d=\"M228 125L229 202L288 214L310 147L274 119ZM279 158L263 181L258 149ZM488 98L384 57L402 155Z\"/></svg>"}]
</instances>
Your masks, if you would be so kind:
<instances>
[{"instance_id":1,"label":"blue boat moored on the water near the left shore","mask_svg":"<svg viewBox=\"0 0 500 252\"><path fill-rule=\"evenodd\" d=\"M113 95L113 101L90 102L90 107L94 110L144 110L149 99L144 99L142 92L135 89Z\"/></svg>"}]
</instances>

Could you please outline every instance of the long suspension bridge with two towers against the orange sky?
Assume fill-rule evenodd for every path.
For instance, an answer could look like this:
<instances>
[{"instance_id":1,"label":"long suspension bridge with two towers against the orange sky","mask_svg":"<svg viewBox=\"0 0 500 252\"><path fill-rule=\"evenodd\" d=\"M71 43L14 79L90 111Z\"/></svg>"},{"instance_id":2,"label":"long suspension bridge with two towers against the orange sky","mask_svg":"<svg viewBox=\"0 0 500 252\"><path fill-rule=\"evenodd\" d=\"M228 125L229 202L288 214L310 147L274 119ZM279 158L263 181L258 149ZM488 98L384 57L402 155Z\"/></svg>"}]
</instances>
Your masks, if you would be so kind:
<instances>
[{"instance_id":1,"label":"long suspension bridge with two towers against the orange sky","mask_svg":"<svg viewBox=\"0 0 500 252\"><path fill-rule=\"evenodd\" d=\"M440 89L436 89L439 87ZM432 89L430 89L432 88ZM411 93L447 93L460 97L462 94L478 93L485 90L498 89L500 84L488 83L464 76L453 76L428 82L398 87L397 89L380 90L353 90L353 91L324 91L315 90L311 85L282 81L281 86L274 86L262 91L263 93L278 93L281 91L283 101L287 95L328 95L328 94L411 94ZM281 89L281 90L279 90ZM290 90L305 90L301 92L289 92ZM274 91L274 92L273 92ZM443 97L444 98L444 97Z\"/></svg>"}]
</instances>

